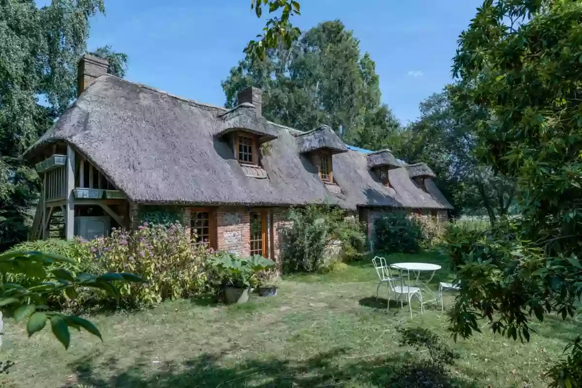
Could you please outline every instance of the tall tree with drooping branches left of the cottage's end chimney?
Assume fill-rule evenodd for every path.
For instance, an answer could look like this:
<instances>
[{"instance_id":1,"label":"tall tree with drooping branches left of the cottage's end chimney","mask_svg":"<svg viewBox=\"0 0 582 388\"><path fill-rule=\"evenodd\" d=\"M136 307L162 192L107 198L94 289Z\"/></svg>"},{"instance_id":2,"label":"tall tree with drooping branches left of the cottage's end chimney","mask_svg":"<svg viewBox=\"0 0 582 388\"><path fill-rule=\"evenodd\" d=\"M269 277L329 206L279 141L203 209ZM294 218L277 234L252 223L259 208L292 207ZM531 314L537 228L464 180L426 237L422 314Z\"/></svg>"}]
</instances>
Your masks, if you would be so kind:
<instances>
[{"instance_id":1,"label":"tall tree with drooping branches left of the cottage's end chimney","mask_svg":"<svg viewBox=\"0 0 582 388\"><path fill-rule=\"evenodd\" d=\"M36 173L20 156L76 97L77 60L86 51L89 17L102 0L0 2L0 250L26 238L38 198ZM127 57L111 51L112 72Z\"/></svg>"}]
</instances>

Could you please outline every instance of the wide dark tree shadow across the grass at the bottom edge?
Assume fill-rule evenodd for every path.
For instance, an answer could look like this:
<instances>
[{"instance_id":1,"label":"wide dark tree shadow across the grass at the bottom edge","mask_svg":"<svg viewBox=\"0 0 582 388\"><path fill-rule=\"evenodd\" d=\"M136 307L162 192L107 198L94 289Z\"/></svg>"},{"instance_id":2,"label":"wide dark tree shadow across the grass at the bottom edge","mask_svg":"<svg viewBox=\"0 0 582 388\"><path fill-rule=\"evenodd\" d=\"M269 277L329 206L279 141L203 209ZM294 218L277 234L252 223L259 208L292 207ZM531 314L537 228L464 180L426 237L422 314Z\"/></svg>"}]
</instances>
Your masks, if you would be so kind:
<instances>
[{"instance_id":1,"label":"wide dark tree shadow across the grass at the bottom edge","mask_svg":"<svg viewBox=\"0 0 582 388\"><path fill-rule=\"evenodd\" d=\"M70 365L76 383L63 387L309 387L365 385L400 387L402 371L410 365L410 358L396 357L346 357L345 349L314 355L303 361L288 359L250 359L233 365L224 355L202 354L183 362L151 364L141 358L130 368L118 369L111 359L104 361L100 369L110 373L102 376L95 371L92 357L80 359ZM340 364L339 362L342 362ZM417 379L417 376L407 376ZM423 379L425 376L423 376ZM442 386L474 388L474 383L451 378L440 373L437 378ZM418 381L421 387L425 382ZM432 386L432 385L430 385Z\"/></svg>"}]
</instances>

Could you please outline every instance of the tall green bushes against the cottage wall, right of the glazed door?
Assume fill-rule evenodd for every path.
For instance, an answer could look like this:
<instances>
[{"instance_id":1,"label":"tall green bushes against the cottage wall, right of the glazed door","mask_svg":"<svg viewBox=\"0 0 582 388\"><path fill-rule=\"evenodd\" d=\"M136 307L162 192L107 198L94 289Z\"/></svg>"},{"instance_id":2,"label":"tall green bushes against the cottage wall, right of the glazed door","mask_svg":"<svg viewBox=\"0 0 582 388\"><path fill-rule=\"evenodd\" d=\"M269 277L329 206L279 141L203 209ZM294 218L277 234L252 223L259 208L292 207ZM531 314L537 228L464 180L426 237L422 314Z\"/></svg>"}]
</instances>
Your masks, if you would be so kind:
<instances>
[{"instance_id":1,"label":"tall green bushes against the cottage wall, right of the glazed door","mask_svg":"<svg viewBox=\"0 0 582 388\"><path fill-rule=\"evenodd\" d=\"M346 259L357 257L364 244L363 228L346 220L339 208L308 205L289 211L291 225L282 231L282 261L285 272L325 270L334 258L327 254L333 241L340 241Z\"/></svg>"}]
</instances>

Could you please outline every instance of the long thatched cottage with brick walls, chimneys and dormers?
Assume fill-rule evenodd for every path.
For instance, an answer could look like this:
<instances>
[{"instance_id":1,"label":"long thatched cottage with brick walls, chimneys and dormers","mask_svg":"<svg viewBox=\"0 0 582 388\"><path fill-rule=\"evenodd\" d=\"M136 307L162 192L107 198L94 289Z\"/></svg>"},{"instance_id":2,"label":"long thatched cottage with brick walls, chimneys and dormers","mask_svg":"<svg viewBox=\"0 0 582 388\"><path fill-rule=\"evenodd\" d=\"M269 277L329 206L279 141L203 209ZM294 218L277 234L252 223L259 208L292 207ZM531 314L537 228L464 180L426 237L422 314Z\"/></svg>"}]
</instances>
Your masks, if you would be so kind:
<instances>
[{"instance_id":1,"label":"long thatched cottage with brick walls, chimneys and dormers","mask_svg":"<svg viewBox=\"0 0 582 388\"><path fill-rule=\"evenodd\" d=\"M331 204L367 222L404 208L448 219L450 203L424 163L364 153L328 126L266 120L261 90L234 109L200 104L79 63L79 97L24 155L42 191L30 239L91 239L167 210L197 242L277 258L289 207Z\"/></svg>"}]
</instances>

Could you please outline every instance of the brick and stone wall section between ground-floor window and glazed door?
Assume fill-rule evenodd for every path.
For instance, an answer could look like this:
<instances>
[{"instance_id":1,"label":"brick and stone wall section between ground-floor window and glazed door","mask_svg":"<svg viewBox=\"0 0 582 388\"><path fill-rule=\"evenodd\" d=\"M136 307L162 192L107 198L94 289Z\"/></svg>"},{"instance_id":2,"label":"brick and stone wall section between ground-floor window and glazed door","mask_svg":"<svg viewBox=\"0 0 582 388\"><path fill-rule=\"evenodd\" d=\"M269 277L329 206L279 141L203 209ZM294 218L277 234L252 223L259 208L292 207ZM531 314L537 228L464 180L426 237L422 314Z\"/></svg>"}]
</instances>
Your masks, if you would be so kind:
<instances>
[{"instance_id":1,"label":"brick and stone wall section between ground-floor window and glazed door","mask_svg":"<svg viewBox=\"0 0 582 388\"><path fill-rule=\"evenodd\" d=\"M250 216L247 208L217 209L217 248L239 256L250 254Z\"/></svg>"}]
</instances>

